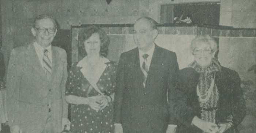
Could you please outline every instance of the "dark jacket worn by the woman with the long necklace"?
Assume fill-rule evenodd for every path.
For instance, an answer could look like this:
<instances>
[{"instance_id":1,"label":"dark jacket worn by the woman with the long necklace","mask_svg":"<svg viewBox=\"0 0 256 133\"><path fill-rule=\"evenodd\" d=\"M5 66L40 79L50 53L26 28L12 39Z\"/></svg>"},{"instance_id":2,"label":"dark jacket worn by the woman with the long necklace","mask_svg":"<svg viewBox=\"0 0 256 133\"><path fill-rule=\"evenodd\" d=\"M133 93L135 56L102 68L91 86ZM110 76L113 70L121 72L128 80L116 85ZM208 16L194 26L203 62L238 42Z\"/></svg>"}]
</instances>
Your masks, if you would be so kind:
<instances>
[{"instance_id":1,"label":"dark jacket worn by the woman with the long necklace","mask_svg":"<svg viewBox=\"0 0 256 133\"><path fill-rule=\"evenodd\" d=\"M179 73L176 102L174 105L175 115L178 119L177 133L202 132L196 126L191 125L193 117L201 118L200 105L196 94L199 82L199 73L193 68L184 68ZM246 107L240 77L237 72L221 66L221 71L216 72L215 84L219 91L218 110L216 123L226 123L232 115L233 127L225 133L234 133L236 127L245 117Z\"/></svg>"}]
</instances>

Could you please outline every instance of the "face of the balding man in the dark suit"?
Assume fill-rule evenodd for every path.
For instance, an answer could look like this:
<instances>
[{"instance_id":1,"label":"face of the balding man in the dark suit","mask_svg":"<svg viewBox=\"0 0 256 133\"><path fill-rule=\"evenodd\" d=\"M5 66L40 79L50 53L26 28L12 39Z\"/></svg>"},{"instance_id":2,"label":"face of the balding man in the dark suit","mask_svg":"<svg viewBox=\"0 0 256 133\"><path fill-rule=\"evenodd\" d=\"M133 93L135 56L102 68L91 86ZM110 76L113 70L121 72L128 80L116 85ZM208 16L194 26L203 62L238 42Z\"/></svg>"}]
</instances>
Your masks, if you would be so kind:
<instances>
[{"instance_id":1,"label":"face of the balding man in the dark suit","mask_svg":"<svg viewBox=\"0 0 256 133\"><path fill-rule=\"evenodd\" d=\"M154 39L157 37L157 30L152 29L146 19L140 19L134 24L133 39L142 51L148 51L154 45Z\"/></svg>"}]
</instances>

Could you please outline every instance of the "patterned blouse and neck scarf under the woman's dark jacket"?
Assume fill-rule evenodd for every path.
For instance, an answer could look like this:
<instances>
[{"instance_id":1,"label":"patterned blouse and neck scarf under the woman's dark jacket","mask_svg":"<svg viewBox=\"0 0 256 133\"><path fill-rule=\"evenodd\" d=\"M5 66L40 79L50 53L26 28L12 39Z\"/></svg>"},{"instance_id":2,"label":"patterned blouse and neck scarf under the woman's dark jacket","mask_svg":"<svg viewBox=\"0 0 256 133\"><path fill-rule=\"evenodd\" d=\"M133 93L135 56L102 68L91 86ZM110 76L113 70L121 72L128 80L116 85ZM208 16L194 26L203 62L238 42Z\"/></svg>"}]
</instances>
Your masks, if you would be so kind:
<instances>
[{"instance_id":1,"label":"patterned blouse and neck scarf under the woman's dark jacket","mask_svg":"<svg viewBox=\"0 0 256 133\"><path fill-rule=\"evenodd\" d=\"M210 88L211 81L215 77L215 72L221 70L221 65L216 58L212 58L211 64L206 68L201 67L196 61L189 64L189 67L194 68L199 74L198 88L201 95L207 95ZM216 84L214 84L210 98L206 103L202 103L199 100L201 110L201 117L203 120L215 123L215 114L217 111L217 104L219 99L219 92ZM210 110L207 110L210 109Z\"/></svg>"}]
</instances>

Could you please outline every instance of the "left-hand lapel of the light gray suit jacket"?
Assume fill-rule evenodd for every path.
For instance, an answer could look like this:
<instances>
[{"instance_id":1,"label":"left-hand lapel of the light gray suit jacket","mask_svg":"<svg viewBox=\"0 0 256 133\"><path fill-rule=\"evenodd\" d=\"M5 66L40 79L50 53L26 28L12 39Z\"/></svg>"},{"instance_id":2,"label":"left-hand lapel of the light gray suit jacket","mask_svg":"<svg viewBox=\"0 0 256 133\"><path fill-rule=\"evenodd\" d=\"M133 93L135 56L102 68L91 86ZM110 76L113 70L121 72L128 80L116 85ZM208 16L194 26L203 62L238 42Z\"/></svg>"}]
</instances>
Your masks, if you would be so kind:
<instances>
[{"instance_id":1,"label":"left-hand lapel of the light gray suit jacket","mask_svg":"<svg viewBox=\"0 0 256 133\"><path fill-rule=\"evenodd\" d=\"M33 46L33 43L29 44L29 46L27 47L26 60L29 63L29 65L34 68L34 73L38 73L38 75L40 75L43 79L46 78L44 68L42 67L38 55L35 52L35 47Z\"/></svg>"}]
</instances>

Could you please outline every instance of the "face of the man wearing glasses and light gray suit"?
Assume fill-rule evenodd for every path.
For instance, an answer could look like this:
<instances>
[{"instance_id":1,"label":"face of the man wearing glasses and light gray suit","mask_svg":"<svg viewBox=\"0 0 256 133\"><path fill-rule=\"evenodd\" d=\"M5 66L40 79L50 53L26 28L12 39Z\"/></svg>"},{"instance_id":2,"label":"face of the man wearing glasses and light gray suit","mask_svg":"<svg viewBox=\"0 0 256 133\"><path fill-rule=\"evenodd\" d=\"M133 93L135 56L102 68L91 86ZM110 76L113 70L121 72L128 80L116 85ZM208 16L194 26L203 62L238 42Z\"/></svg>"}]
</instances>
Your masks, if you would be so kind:
<instances>
[{"instance_id":1,"label":"face of the man wearing glasses and light gray suit","mask_svg":"<svg viewBox=\"0 0 256 133\"><path fill-rule=\"evenodd\" d=\"M47 29L44 32L39 32L38 29ZM54 33L50 34L48 30L55 30ZM41 19L37 20L35 27L31 29L35 40L39 45L46 48L51 45L53 38L55 37L57 30L54 27L54 23L51 19Z\"/></svg>"}]
</instances>

